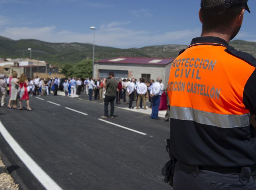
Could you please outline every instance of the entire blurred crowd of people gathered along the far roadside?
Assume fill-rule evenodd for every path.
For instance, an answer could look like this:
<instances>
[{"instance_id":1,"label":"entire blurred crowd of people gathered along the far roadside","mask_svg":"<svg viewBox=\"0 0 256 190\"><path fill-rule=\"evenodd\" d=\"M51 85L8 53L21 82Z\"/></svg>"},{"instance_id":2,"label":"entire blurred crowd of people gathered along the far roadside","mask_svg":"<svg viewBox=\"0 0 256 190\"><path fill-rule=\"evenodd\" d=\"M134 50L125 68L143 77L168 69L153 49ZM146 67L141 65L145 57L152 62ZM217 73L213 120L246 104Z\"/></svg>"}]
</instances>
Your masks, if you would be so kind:
<instances>
[{"instance_id":1,"label":"entire blurred crowd of people gathered along the far roadside","mask_svg":"<svg viewBox=\"0 0 256 190\"><path fill-rule=\"evenodd\" d=\"M110 83L108 83L110 81ZM23 110L22 100L27 103L27 110L32 110L29 104L29 97L50 95L51 91L56 96L60 87L63 87L65 96L75 98L82 92L88 95L89 100L104 100L105 104L111 105L110 117L113 117L114 103L127 104L129 109L148 109L147 100L150 102L149 108L152 109L151 118L158 118L159 110L167 110L167 95L164 90L164 84L161 78L139 80L132 78L116 79L114 73L110 72L108 78L81 78L75 77L63 79L61 78L27 78L25 74L21 74L17 78L17 72L13 72L11 77L0 75L1 88L1 106L5 107L5 98L9 94L10 99L7 108ZM18 107L19 103L19 107ZM107 108L104 111L104 118L109 117Z\"/></svg>"}]
</instances>

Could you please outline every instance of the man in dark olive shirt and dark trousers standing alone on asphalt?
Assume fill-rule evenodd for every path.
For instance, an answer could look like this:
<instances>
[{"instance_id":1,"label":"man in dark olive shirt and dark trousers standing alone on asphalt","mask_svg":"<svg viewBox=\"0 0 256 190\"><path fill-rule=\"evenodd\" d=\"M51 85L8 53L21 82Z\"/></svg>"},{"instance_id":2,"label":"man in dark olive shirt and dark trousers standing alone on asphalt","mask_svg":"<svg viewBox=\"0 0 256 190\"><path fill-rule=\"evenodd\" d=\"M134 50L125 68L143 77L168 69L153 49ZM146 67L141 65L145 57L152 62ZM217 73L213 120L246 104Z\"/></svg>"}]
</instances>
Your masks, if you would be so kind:
<instances>
[{"instance_id":1,"label":"man in dark olive shirt and dark trousers standing alone on asphalt","mask_svg":"<svg viewBox=\"0 0 256 190\"><path fill-rule=\"evenodd\" d=\"M101 118L108 118L108 104L110 102L110 118L114 118L114 106L115 106L115 98L116 98L116 92L117 92L117 82L114 78L115 74L114 72L108 73L109 79L106 81L106 78L104 78L104 87L106 87L106 94L104 99L104 116L101 116Z\"/></svg>"}]
</instances>

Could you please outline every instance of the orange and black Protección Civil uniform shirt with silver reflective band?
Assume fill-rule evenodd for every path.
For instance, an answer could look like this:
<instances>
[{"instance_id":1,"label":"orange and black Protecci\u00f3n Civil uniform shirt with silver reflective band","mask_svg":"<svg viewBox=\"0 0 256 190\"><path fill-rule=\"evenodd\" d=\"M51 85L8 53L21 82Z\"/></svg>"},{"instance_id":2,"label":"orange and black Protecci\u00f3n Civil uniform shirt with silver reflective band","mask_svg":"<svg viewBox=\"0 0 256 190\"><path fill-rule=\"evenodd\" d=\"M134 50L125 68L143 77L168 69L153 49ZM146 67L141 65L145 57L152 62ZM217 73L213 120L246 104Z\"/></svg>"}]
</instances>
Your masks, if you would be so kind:
<instances>
[{"instance_id":1,"label":"orange and black Protecci\u00f3n Civil uniform shirt with silver reflective band","mask_svg":"<svg viewBox=\"0 0 256 190\"><path fill-rule=\"evenodd\" d=\"M255 166L256 60L199 37L171 65L171 151L188 165Z\"/></svg>"}]
</instances>

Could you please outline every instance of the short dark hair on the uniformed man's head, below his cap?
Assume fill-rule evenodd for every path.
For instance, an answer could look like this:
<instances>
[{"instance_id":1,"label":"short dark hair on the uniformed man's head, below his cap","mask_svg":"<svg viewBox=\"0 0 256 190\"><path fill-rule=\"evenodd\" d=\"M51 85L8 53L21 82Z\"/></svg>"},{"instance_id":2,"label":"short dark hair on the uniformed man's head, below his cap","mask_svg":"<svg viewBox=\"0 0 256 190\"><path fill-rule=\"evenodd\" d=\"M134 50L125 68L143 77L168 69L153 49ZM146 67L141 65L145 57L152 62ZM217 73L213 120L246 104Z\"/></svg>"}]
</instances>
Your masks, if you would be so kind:
<instances>
[{"instance_id":1,"label":"short dark hair on the uniformed man's head, below his cap","mask_svg":"<svg viewBox=\"0 0 256 190\"><path fill-rule=\"evenodd\" d=\"M226 31L235 18L241 13L245 6L231 7L224 10L208 10L207 8L216 8L225 4L225 0L202 0L201 8L202 33Z\"/></svg>"}]
</instances>

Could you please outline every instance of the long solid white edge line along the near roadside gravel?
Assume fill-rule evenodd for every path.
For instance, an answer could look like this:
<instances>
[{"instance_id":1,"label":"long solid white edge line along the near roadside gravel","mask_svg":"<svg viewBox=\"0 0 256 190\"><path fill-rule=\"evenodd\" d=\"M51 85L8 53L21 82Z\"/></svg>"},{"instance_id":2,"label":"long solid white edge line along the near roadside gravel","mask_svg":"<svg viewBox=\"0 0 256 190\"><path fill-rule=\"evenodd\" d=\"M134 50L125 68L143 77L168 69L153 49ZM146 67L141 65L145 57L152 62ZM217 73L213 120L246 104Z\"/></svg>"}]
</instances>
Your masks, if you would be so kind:
<instances>
[{"instance_id":1,"label":"long solid white edge line along the near roadside gravel","mask_svg":"<svg viewBox=\"0 0 256 190\"><path fill-rule=\"evenodd\" d=\"M28 167L28 169L47 190L62 190L62 188L20 147L20 145L6 130L1 121L0 132L21 161Z\"/></svg>"}]
</instances>

